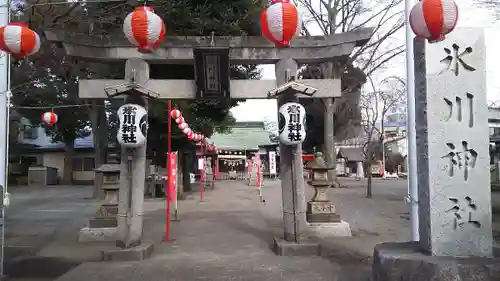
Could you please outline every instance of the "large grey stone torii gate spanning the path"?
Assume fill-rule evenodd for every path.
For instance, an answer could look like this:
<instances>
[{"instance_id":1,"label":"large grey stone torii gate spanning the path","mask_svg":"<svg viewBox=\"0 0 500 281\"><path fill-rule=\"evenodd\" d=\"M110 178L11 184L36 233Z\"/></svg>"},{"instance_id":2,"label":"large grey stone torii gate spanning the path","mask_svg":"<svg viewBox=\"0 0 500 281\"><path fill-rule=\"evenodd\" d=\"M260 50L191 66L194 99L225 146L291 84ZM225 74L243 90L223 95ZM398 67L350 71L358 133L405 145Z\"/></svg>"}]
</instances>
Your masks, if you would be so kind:
<instances>
[{"instance_id":1,"label":"large grey stone torii gate spanning the path","mask_svg":"<svg viewBox=\"0 0 500 281\"><path fill-rule=\"evenodd\" d=\"M371 37L372 29L358 29L353 32L330 36L298 37L290 48L276 48L263 37L168 37L165 42L150 54L140 53L127 39L120 34L94 36L75 34L63 30L47 30L46 38L57 42L66 54L89 61L117 62L126 61L124 80L80 80L79 97L82 99L108 98L105 89L117 85L122 92L137 89L149 89L158 94L159 99L196 99L200 98L200 85L193 80L155 80L149 79L149 65L154 64L194 64L197 50L222 50L228 64L275 64L276 80L229 80L227 90L221 92L219 98L231 99L267 99L269 92L289 82L297 76L297 65L318 64L327 62L345 63L355 47L362 46ZM210 51L209 51L210 52ZM168 66L167 66L168 67ZM206 66L205 66L206 67ZM197 70L198 71L198 70ZM197 72L199 73L199 72ZM131 84L131 82L133 82ZM314 98L337 98L341 96L341 81L338 79L305 79L301 83L317 89ZM203 92L201 92L203 94ZM305 94L297 94L297 98L310 98ZM281 99L278 97L278 99ZM279 100L281 104L284 100ZM147 108L147 102L144 103ZM302 148L298 146L280 145L281 151L281 187L283 194L284 239L291 244L298 244L306 228L306 205L303 171ZM120 181L120 202L132 193L131 209L120 204L119 214L128 214L127 220L118 218L117 245L130 248L140 244L142 237L142 205L144 191L144 169L146 150L140 149L131 155L133 179L130 179L123 162L129 159L128 152L122 152L122 169ZM131 175L132 176L132 175ZM132 190L125 190L132 181ZM292 200L294 198L295 200Z\"/></svg>"}]
</instances>

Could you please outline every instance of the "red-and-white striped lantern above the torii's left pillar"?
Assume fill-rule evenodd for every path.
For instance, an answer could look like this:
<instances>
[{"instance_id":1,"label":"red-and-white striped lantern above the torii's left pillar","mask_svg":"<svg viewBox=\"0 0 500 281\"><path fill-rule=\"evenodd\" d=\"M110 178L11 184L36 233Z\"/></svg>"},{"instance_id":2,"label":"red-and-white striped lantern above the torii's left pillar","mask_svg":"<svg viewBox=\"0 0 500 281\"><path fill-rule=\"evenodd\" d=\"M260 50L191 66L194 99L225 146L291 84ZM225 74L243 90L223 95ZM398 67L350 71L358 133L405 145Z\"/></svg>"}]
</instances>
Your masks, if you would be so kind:
<instances>
[{"instance_id":1,"label":"red-and-white striped lantern above the torii's left pillar","mask_svg":"<svg viewBox=\"0 0 500 281\"><path fill-rule=\"evenodd\" d=\"M141 53L151 53L165 39L165 24L151 7L137 7L123 21L123 33Z\"/></svg>"}]
</instances>

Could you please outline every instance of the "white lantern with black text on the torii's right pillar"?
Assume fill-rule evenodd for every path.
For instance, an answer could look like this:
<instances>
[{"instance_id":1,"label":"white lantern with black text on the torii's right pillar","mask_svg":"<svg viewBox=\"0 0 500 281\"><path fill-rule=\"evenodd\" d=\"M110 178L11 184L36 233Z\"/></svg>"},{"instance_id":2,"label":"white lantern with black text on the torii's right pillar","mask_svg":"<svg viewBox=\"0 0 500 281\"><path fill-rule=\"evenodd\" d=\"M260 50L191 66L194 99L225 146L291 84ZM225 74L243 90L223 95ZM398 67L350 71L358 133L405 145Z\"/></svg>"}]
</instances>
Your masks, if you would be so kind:
<instances>
[{"instance_id":1,"label":"white lantern with black text on the torii's right pillar","mask_svg":"<svg viewBox=\"0 0 500 281\"><path fill-rule=\"evenodd\" d=\"M289 102L279 110L279 139L284 145L296 145L306 138L306 110L300 103Z\"/></svg>"}]
</instances>

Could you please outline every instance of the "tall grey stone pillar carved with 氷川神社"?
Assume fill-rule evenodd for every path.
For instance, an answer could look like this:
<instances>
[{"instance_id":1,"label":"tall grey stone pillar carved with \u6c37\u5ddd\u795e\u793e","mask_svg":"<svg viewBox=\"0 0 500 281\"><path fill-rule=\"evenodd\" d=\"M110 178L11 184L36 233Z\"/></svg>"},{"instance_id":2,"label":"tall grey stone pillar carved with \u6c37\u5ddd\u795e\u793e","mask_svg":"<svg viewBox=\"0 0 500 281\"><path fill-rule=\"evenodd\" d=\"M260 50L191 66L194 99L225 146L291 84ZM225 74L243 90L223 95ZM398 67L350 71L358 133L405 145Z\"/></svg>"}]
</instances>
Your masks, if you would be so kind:
<instances>
[{"instance_id":1,"label":"tall grey stone pillar carved with \u6c37\u5ddd\u795e\u793e","mask_svg":"<svg viewBox=\"0 0 500 281\"><path fill-rule=\"evenodd\" d=\"M424 45L415 48L420 245L437 256L491 256L484 32L415 44Z\"/></svg>"}]
</instances>

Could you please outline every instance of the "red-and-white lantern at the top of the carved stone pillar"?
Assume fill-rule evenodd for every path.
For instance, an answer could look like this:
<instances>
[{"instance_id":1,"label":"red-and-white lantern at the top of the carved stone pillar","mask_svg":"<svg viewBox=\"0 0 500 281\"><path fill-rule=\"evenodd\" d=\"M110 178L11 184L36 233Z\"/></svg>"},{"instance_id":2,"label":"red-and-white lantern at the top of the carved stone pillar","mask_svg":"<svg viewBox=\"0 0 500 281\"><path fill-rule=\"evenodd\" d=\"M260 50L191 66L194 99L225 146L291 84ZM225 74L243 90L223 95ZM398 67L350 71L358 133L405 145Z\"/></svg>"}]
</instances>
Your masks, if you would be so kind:
<instances>
[{"instance_id":1,"label":"red-and-white lantern at the top of the carved stone pillar","mask_svg":"<svg viewBox=\"0 0 500 281\"><path fill-rule=\"evenodd\" d=\"M458 7L453 0L422 0L410 12L411 29L429 43L445 39L458 21Z\"/></svg>"}]
</instances>

